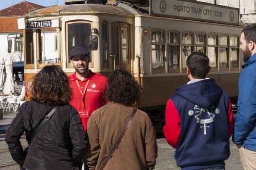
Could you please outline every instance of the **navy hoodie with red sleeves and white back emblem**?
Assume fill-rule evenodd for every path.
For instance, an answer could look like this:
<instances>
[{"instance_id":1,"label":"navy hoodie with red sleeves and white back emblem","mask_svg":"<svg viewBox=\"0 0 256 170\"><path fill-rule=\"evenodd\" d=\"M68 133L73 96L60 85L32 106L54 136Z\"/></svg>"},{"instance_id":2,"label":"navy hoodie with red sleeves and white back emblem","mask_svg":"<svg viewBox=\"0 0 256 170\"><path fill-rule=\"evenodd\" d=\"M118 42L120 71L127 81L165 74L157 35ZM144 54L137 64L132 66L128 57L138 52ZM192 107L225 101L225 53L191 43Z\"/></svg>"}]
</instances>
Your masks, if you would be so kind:
<instances>
[{"instance_id":1,"label":"navy hoodie with red sleeves and white back emblem","mask_svg":"<svg viewBox=\"0 0 256 170\"><path fill-rule=\"evenodd\" d=\"M214 79L178 87L166 104L165 122L166 141L176 148L182 170L225 165L234 120L229 96Z\"/></svg>"}]
</instances>

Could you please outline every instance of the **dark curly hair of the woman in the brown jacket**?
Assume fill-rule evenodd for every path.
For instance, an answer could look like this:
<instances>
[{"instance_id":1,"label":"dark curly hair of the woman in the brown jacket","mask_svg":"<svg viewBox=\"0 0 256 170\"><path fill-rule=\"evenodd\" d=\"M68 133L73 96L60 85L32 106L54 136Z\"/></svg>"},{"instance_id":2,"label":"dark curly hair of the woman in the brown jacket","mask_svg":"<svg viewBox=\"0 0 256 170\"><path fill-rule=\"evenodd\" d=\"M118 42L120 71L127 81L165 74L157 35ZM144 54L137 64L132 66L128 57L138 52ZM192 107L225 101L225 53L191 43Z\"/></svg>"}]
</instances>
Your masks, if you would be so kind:
<instances>
[{"instance_id":1,"label":"dark curly hair of the woman in the brown jacket","mask_svg":"<svg viewBox=\"0 0 256 170\"><path fill-rule=\"evenodd\" d=\"M110 102L135 106L142 94L142 87L124 69L116 69L108 80L107 97Z\"/></svg>"}]
</instances>

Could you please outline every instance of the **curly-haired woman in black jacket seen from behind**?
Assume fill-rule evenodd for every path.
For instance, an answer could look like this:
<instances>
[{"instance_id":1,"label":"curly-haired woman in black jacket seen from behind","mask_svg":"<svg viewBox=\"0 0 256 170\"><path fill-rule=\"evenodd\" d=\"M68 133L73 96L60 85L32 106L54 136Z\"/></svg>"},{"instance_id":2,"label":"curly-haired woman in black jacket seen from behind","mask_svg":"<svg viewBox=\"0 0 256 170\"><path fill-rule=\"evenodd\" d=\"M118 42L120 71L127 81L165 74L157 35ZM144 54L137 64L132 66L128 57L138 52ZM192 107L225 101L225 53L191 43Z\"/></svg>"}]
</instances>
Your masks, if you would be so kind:
<instances>
[{"instance_id":1,"label":"curly-haired woman in black jacket seen from behind","mask_svg":"<svg viewBox=\"0 0 256 170\"><path fill-rule=\"evenodd\" d=\"M45 66L35 76L31 93L31 101L20 106L6 133L12 158L21 169L79 170L88 139L77 111L69 104L72 90L68 77L59 66ZM31 142L35 129L55 106L59 108ZM27 155L19 141L24 131Z\"/></svg>"}]
</instances>

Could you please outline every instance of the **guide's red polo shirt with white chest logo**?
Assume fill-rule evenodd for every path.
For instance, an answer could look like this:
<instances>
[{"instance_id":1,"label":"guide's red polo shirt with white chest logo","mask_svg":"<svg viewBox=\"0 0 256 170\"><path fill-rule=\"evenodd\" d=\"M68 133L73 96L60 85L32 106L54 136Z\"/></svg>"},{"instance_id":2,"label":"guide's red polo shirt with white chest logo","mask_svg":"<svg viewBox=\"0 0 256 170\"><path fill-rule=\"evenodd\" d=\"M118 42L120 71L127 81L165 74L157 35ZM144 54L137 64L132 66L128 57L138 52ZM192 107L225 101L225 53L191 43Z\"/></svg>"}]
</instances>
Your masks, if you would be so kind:
<instances>
[{"instance_id":1,"label":"guide's red polo shirt with white chest logo","mask_svg":"<svg viewBox=\"0 0 256 170\"><path fill-rule=\"evenodd\" d=\"M107 86L107 78L105 76L93 73L91 70L89 71L89 76L87 78L84 78L82 81L77 78L77 76L75 75L76 72L68 76L69 85L73 90L73 96L70 104L79 112L84 131L86 131L87 122L91 113L104 105L105 100L103 92L106 90ZM77 85L76 80L80 85L82 92L84 92L84 89L87 86L84 94L84 101L83 95L79 86Z\"/></svg>"}]
</instances>

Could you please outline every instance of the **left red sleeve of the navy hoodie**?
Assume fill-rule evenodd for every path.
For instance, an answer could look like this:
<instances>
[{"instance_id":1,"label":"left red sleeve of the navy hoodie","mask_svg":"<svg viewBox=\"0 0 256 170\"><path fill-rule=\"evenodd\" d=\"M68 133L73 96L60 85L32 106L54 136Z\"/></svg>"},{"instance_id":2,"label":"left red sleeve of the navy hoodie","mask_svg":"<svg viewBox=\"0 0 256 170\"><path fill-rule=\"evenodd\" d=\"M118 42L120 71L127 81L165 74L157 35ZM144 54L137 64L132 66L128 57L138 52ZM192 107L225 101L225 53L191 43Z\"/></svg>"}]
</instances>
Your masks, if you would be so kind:
<instances>
[{"instance_id":1,"label":"left red sleeve of the navy hoodie","mask_svg":"<svg viewBox=\"0 0 256 170\"><path fill-rule=\"evenodd\" d=\"M181 118L171 99L167 101L165 109L165 139L168 144L176 148L181 133Z\"/></svg>"}]
</instances>

